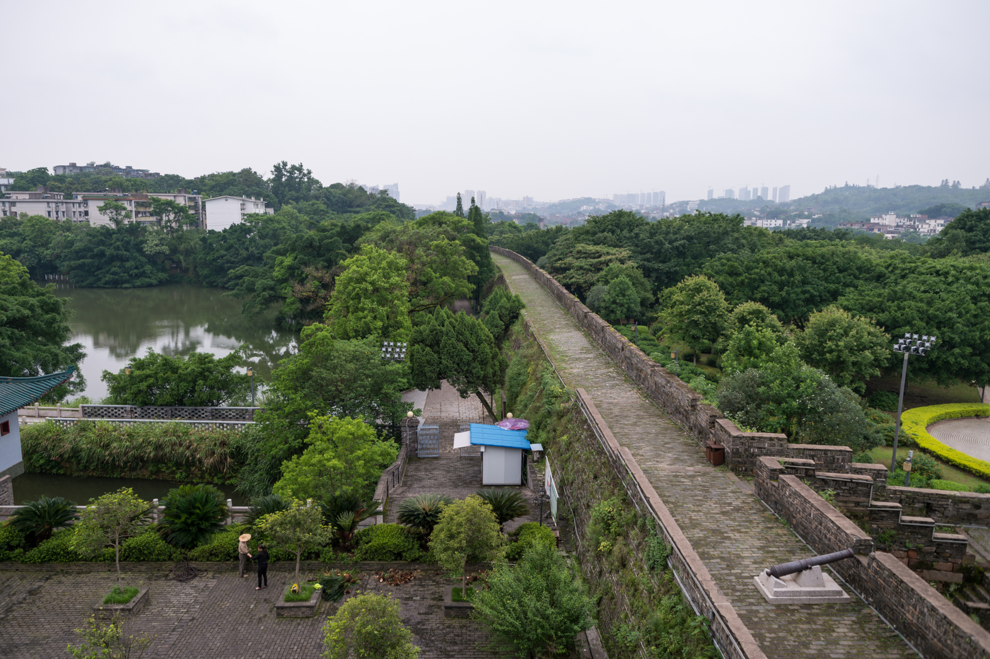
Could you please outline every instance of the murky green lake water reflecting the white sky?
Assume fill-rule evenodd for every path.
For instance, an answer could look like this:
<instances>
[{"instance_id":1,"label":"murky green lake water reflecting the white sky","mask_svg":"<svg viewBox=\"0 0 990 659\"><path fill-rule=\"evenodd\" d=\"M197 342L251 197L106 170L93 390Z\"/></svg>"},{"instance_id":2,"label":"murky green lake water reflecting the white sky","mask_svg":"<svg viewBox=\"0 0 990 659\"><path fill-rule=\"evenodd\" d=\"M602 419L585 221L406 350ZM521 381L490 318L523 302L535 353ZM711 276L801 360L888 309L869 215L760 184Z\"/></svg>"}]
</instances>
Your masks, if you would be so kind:
<instances>
[{"instance_id":1,"label":"murky green lake water reflecting the white sky","mask_svg":"<svg viewBox=\"0 0 990 659\"><path fill-rule=\"evenodd\" d=\"M198 350L223 357L244 345L247 358L242 365L252 366L256 376L268 379L278 360L295 348L298 334L275 329L274 312L245 319L241 301L224 297L226 292L181 284L57 288L56 296L70 300L71 342L82 343L86 351L80 365L86 378L84 395L94 402L107 396L107 385L100 380L103 371L116 373L149 347L172 356Z\"/></svg>"}]
</instances>

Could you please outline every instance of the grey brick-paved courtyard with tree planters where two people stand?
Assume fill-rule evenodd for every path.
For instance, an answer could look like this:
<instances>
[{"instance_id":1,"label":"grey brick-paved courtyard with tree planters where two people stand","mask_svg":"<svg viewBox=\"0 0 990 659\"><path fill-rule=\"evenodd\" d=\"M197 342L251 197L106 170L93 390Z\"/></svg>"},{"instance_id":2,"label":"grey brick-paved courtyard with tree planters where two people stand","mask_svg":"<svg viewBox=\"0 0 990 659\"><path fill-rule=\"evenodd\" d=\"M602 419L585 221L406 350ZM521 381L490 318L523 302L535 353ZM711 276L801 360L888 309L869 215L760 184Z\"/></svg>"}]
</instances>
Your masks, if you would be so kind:
<instances>
[{"instance_id":1,"label":"grey brick-paved courtyard with tree planters where two people stand","mask_svg":"<svg viewBox=\"0 0 990 659\"><path fill-rule=\"evenodd\" d=\"M246 579L236 572L208 574L185 584L164 576L125 574L129 585L149 587L144 611L125 625L127 634L155 636L146 657L310 659L324 650L321 629L334 606L321 605L316 617L275 618L273 604L293 576L287 565L269 568L264 591L254 590L253 574ZM364 574L359 590L399 600L423 659L503 656L479 649L486 642L479 623L444 617L444 587L454 581L427 572L409 584L389 586ZM0 657L68 656L65 646L78 642L73 630L115 584L113 572L0 572Z\"/></svg>"}]
</instances>

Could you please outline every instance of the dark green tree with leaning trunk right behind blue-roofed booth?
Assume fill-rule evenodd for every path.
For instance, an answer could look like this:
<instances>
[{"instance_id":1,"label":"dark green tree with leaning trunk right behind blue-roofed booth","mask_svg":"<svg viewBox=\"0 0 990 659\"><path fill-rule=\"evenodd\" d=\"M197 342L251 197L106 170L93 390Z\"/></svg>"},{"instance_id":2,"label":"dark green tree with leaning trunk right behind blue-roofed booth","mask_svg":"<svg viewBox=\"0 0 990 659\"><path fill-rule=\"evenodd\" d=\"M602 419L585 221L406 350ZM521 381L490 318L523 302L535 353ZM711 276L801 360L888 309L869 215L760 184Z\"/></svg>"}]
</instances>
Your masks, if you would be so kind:
<instances>
[{"instance_id":1,"label":"dark green tree with leaning trunk right behind blue-roofed booth","mask_svg":"<svg viewBox=\"0 0 990 659\"><path fill-rule=\"evenodd\" d=\"M411 343L409 365L417 389L440 389L446 380L461 398L477 396L492 419L498 419L484 394L502 385L509 364L480 321L437 309L427 323L413 329Z\"/></svg>"}]
</instances>

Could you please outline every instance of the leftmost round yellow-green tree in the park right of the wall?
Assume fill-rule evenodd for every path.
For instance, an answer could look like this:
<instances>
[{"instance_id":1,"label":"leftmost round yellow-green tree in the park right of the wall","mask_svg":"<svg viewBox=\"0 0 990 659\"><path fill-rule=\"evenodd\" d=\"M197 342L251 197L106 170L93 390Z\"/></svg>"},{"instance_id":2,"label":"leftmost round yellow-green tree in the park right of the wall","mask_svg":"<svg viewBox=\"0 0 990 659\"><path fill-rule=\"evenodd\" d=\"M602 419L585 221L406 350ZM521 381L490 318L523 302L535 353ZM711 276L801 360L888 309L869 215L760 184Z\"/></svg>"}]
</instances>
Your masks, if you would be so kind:
<instances>
[{"instance_id":1,"label":"leftmost round yellow-green tree in the park right of the wall","mask_svg":"<svg viewBox=\"0 0 990 659\"><path fill-rule=\"evenodd\" d=\"M667 332L694 350L694 365L697 366L698 350L714 343L729 321L729 304L725 296L714 281L696 275L665 290L663 303Z\"/></svg>"}]
</instances>

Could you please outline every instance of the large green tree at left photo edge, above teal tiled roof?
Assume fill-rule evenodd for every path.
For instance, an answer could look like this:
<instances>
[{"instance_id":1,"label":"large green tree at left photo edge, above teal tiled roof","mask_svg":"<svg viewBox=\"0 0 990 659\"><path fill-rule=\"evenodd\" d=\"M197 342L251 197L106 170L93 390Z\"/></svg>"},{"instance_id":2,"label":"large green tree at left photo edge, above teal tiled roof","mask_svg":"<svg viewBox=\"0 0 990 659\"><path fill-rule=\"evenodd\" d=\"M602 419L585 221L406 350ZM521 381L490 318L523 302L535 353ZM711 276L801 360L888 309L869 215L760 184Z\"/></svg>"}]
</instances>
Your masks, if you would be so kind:
<instances>
[{"instance_id":1,"label":"large green tree at left photo edge, above teal tiled roof","mask_svg":"<svg viewBox=\"0 0 990 659\"><path fill-rule=\"evenodd\" d=\"M54 287L42 287L28 278L28 270L0 252L0 375L35 377L55 373L81 362L81 343L65 345L72 331L64 298ZM85 382L76 376L60 385L52 396L81 391Z\"/></svg>"}]
</instances>

